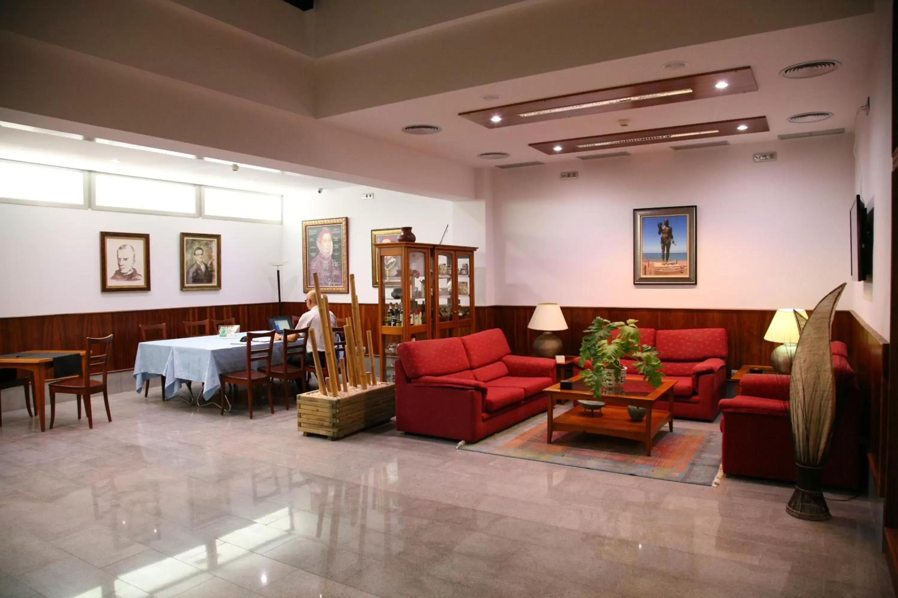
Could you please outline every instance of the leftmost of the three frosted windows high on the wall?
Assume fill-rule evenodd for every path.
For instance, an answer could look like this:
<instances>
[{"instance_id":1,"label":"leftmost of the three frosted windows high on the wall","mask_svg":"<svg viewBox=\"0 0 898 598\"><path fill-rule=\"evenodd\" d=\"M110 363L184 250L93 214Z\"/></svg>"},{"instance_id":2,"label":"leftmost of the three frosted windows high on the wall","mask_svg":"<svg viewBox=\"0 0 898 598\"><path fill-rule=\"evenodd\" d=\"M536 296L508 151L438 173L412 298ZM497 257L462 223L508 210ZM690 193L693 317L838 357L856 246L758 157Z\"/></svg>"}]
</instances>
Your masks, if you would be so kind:
<instances>
[{"instance_id":1,"label":"leftmost of the three frosted windows high on the wall","mask_svg":"<svg viewBox=\"0 0 898 598\"><path fill-rule=\"evenodd\" d=\"M84 173L0 160L0 198L15 203L84 205Z\"/></svg>"}]
</instances>

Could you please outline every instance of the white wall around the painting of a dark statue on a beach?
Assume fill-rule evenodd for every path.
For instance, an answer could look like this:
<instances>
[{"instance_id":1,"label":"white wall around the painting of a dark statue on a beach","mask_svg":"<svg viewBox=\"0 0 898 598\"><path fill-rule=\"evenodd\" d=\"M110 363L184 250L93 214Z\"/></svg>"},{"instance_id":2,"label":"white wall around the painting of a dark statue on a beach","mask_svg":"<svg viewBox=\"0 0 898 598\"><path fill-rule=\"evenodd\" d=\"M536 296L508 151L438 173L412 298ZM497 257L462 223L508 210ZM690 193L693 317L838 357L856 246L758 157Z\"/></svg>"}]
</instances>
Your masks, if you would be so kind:
<instances>
[{"instance_id":1,"label":"white wall around the painting of a dark statue on a beach","mask_svg":"<svg viewBox=\"0 0 898 598\"><path fill-rule=\"evenodd\" d=\"M847 280L852 135L496 171L499 305L813 308ZM753 152L779 160L753 163ZM559 180L577 169L577 180ZM633 209L698 206L698 284L633 284ZM842 299L840 308L848 308Z\"/></svg>"}]
</instances>

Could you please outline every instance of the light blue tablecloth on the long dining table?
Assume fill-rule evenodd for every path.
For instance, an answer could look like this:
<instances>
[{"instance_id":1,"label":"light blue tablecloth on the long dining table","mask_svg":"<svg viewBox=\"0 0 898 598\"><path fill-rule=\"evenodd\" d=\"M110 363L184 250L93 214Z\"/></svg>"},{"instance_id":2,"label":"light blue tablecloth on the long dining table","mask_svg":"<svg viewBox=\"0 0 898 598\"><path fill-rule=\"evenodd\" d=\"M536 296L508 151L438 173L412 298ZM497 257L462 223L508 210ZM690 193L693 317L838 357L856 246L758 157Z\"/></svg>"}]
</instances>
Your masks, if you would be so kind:
<instances>
[{"instance_id":1,"label":"light blue tablecloth on the long dining table","mask_svg":"<svg viewBox=\"0 0 898 598\"><path fill-rule=\"evenodd\" d=\"M242 336L242 334L240 335ZM237 338L194 336L165 341L141 342L134 363L136 391L142 392L146 380L165 377L165 396L174 396L187 382L202 382L203 398L209 400L218 392L219 376L246 369L246 343ZM263 346L262 343L260 346ZM281 362L281 342L275 341L271 363ZM254 345L255 346L255 345ZM261 362L254 363L258 367Z\"/></svg>"}]
</instances>

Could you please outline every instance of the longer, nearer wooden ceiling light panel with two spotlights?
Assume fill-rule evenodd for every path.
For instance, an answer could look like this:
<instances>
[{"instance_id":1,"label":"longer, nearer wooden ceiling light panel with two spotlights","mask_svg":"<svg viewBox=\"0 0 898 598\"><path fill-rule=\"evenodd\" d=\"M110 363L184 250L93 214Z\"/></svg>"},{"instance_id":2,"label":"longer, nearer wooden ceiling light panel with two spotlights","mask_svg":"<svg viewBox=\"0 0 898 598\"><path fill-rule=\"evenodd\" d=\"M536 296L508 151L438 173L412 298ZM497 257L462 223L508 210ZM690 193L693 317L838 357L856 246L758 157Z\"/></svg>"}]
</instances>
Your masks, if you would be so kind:
<instances>
[{"instance_id":1,"label":"longer, nearer wooden ceiling light panel with two spotlights","mask_svg":"<svg viewBox=\"0 0 898 598\"><path fill-rule=\"evenodd\" d=\"M721 87L720 83L726 84ZM581 91L506 106L493 106L462 112L459 116L478 125L495 129L500 126L524 125L599 112L704 100L748 91L758 91L758 84L754 80L752 67L742 66L726 71L691 74L603 90Z\"/></svg>"}]
</instances>

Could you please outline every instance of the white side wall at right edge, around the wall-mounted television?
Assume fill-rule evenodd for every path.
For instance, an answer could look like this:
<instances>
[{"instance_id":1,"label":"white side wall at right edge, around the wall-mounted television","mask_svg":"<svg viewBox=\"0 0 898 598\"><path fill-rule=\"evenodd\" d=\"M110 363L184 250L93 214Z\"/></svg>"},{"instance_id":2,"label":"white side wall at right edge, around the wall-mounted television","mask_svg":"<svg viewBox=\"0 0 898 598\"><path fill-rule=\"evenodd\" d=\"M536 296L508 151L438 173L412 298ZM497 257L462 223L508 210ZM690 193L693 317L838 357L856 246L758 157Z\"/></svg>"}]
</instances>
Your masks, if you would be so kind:
<instances>
[{"instance_id":1,"label":"white side wall at right edge, around the wall-mounted television","mask_svg":"<svg viewBox=\"0 0 898 598\"><path fill-rule=\"evenodd\" d=\"M892 10L891 1L876 3L880 23L870 69L870 114L858 115L857 193L874 208L873 281L850 282L855 312L876 332L889 338L892 270Z\"/></svg>"}]
</instances>

